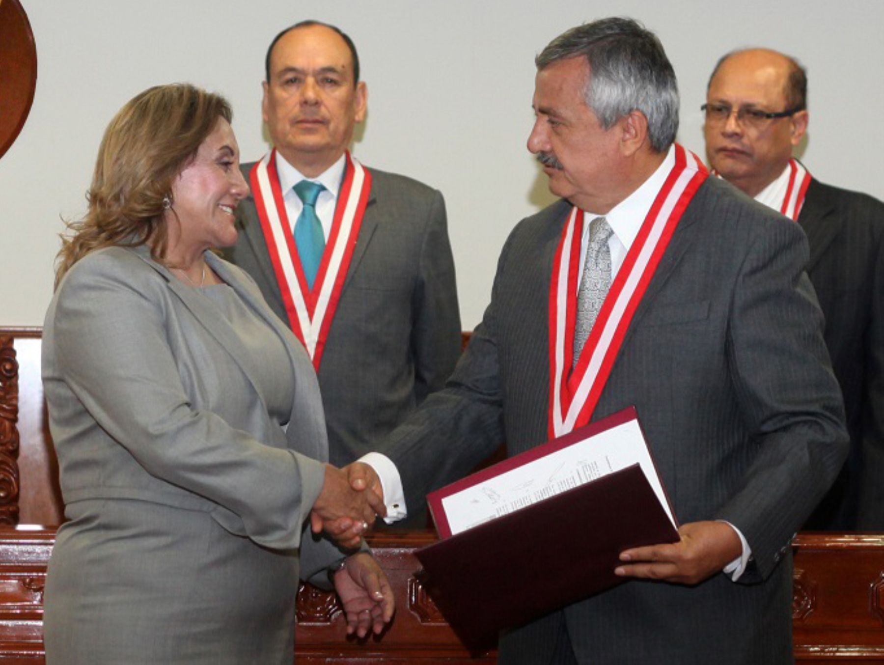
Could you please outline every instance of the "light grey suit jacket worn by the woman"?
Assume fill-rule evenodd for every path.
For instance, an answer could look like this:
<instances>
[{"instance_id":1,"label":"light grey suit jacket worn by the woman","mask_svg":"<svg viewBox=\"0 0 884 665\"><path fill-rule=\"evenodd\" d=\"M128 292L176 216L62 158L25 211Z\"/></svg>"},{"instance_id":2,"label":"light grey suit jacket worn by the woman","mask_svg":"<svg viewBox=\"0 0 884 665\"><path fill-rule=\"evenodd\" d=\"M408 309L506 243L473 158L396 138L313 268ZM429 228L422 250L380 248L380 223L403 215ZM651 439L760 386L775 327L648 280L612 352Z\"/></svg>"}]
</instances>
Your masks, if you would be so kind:
<instances>
[{"instance_id":1,"label":"light grey suit jacket worn by the woman","mask_svg":"<svg viewBox=\"0 0 884 665\"><path fill-rule=\"evenodd\" d=\"M205 256L285 343L296 381L289 421L269 417L247 350L204 296L146 248L95 251L65 275L43 329L62 494L66 504L120 498L201 510L259 545L297 549L327 455L316 378L248 275ZM232 392L248 407L227 399ZM339 557L305 538L301 572Z\"/></svg>"}]
</instances>

